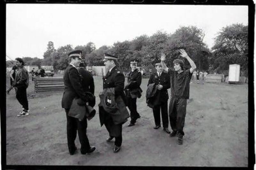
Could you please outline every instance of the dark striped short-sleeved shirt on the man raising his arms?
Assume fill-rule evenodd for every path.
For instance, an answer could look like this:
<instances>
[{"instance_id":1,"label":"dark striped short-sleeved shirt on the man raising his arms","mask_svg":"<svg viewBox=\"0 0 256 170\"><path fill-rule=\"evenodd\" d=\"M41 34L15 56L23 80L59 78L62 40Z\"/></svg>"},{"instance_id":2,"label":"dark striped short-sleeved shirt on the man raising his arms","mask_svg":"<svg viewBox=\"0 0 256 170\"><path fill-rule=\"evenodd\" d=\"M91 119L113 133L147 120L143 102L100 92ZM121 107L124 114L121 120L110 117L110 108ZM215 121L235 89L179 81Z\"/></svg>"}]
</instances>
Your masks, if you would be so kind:
<instances>
[{"instance_id":1,"label":"dark striped short-sleeved shirt on the man raising his arms","mask_svg":"<svg viewBox=\"0 0 256 170\"><path fill-rule=\"evenodd\" d=\"M168 74L171 78L171 96L189 99L189 83L192 77L190 70L185 70L179 74L178 71L169 69Z\"/></svg>"}]
</instances>

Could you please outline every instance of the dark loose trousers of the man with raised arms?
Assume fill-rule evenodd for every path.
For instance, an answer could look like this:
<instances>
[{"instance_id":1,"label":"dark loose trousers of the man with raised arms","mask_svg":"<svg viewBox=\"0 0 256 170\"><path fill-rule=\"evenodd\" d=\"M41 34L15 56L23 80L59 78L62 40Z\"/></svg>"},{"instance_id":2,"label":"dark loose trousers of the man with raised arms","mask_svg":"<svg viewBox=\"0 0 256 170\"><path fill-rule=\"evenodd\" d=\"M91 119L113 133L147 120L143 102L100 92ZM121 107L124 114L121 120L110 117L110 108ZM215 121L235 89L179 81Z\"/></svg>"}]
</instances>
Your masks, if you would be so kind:
<instances>
[{"instance_id":1,"label":"dark loose trousers of the man with raised arms","mask_svg":"<svg viewBox=\"0 0 256 170\"><path fill-rule=\"evenodd\" d=\"M183 128L187 109L187 99L171 97L169 104L169 117L171 128L184 135Z\"/></svg>"}]
</instances>

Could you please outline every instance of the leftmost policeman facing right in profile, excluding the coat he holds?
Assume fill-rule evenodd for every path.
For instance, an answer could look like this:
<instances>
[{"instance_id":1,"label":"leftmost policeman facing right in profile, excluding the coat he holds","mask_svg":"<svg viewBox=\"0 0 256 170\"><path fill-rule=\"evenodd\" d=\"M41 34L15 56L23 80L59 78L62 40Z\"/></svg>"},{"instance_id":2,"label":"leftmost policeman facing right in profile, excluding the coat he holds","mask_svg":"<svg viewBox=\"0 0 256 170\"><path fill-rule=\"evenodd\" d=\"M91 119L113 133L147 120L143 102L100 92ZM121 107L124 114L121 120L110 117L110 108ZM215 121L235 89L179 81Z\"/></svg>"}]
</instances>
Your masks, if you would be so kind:
<instances>
[{"instance_id":1,"label":"leftmost policeman facing right in profile, excluding the coat he holds","mask_svg":"<svg viewBox=\"0 0 256 170\"><path fill-rule=\"evenodd\" d=\"M84 104L88 102L82 85L81 78L76 67L81 63L81 50L74 50L69 53L71 62L65 70L63 81L65 85L64 94L61 101L62 108L65 108L67 116L67 138L68 138L68 151L70 155L73 155L76 151L75 139L76 131L78 131L78 137L81 144L81 154L91 153L95 150L95 147L90 147L89 140L86 135L86 118L79 121L77 118L68 116L69 109L71 107L74 98L80 98L84 101Z\"/></svg>"}]
</instances>

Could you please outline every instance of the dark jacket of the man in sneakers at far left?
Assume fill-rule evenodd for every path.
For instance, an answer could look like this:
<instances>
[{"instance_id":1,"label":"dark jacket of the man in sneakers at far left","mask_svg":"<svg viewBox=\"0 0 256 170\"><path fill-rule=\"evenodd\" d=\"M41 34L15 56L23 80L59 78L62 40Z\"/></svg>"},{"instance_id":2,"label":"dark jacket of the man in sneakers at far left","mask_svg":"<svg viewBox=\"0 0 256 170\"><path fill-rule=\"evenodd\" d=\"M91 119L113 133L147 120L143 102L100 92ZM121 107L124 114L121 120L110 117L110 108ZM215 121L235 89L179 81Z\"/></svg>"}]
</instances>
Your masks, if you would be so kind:
<instances>
[{"instance_id":1,"label":"dark jacket of the man in sneakers at far left","mask_svg":"<svg viewBox=\"0 0 256 170\"><path fill-rule=\"evenodd\" d=\"M25 87L28 88L29 84L29 75L28 71L25 69L25 67L22 65L18 68L18 71L15 76L15 82L14 87Z\"/></svg>"}]
</instances>

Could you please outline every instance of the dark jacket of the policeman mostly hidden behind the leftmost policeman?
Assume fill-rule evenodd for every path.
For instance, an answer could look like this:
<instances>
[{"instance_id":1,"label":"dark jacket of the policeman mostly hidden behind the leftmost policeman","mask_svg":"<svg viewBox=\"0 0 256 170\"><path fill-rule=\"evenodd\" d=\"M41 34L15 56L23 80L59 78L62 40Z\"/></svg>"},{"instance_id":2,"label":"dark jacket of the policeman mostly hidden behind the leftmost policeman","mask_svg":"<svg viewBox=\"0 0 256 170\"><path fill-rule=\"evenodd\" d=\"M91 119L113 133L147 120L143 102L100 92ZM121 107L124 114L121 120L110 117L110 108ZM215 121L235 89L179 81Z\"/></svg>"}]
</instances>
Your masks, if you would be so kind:
<instances>
[{"instance_id":1,"label":"dark jacket of the policeman mostly hidden behind the leftmost policeman","mask_svg":"<svg viewBox=\"0 0 256 170\"><path fill-rule=\"evenodd\" d=\"M90 71L85 70L84 67L80 67L78 72L82 76L82 87L84 91L94 94L94 80Z\"/></svg>"}]
</instances>

